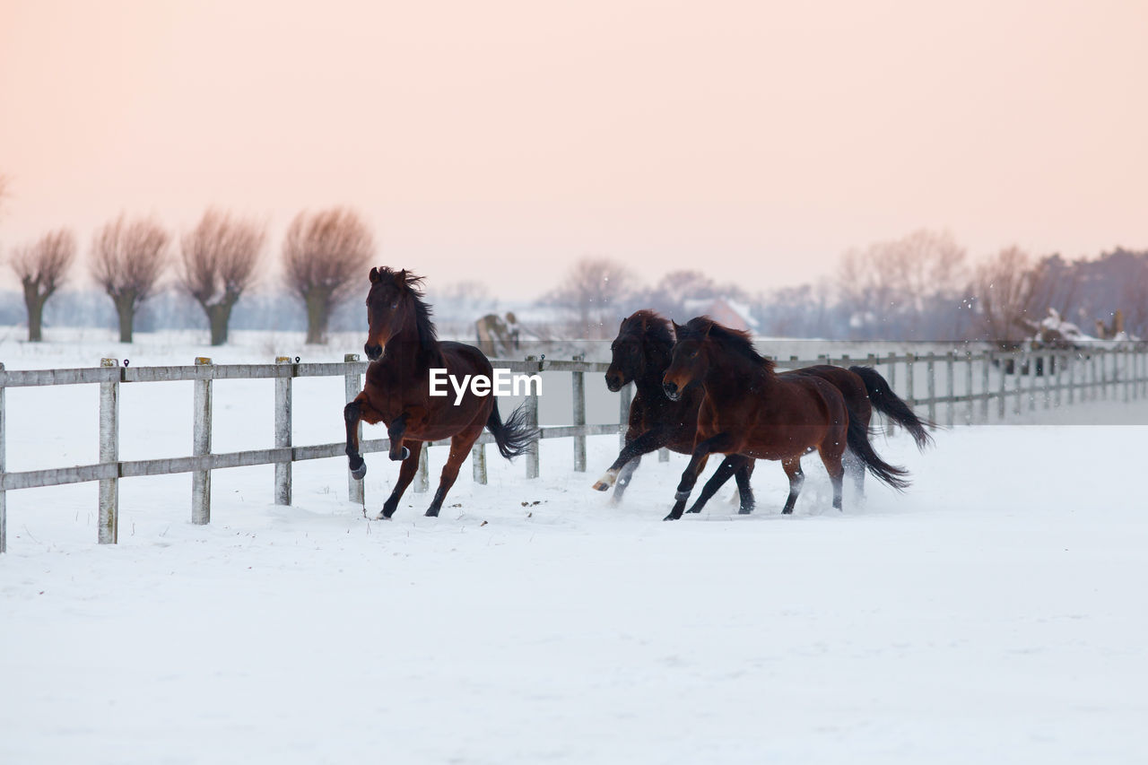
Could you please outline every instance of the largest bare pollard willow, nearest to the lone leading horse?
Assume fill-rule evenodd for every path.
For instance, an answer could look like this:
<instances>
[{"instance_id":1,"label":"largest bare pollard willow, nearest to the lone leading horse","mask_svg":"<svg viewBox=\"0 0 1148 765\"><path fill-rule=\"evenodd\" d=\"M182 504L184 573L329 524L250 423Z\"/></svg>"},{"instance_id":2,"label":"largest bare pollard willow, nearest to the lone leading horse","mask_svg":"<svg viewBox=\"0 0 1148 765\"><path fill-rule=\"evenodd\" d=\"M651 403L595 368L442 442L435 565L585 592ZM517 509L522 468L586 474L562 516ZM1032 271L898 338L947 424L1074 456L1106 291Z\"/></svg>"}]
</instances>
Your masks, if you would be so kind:
<instances>
[{"instance_id":1,"label":"largest bare pollard willow, nearest to the lone leading horse","mask_svg":"<svg viewBox=\"0 0 1148 765\"><path fill-rule=\"evenodd\" d=\"M373 255L371 230L352 210L295 216L284 239L284 265L307 308L307 342L324 341L332 310L358 286Z\"/></svg>"}]
</instances>

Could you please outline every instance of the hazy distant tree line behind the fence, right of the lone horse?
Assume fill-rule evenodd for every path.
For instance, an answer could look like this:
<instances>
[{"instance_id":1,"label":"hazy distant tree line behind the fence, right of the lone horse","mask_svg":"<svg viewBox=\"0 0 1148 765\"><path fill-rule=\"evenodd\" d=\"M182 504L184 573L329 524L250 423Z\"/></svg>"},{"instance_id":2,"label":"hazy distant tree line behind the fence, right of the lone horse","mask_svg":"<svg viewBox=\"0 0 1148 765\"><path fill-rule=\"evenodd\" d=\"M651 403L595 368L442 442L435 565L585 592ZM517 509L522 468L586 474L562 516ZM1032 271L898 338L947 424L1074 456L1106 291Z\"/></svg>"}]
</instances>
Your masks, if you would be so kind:
<instances>
[{"instance_id":1,"label":"hazy distant tree line behind the fence, right of the lone horse","mask_svg":"<svg viewBox=\"0 0 1148 765\"><path fill-rule=\"evenodd\" d=\"M771 289L719 284L698 270L645 286L620 261L587 257L538 303L560 307L576 337L612 338L639 308L684 322L690 300L714 298L744 307L767 337L1010 345L1053 309L1097 337L1111 333L1119 311L1126 332L1148 338L1148 250L1069 261L1004 247L974 262L951 233L918 230L844 253L831 277Z\"/></svg>"}]
</instances>

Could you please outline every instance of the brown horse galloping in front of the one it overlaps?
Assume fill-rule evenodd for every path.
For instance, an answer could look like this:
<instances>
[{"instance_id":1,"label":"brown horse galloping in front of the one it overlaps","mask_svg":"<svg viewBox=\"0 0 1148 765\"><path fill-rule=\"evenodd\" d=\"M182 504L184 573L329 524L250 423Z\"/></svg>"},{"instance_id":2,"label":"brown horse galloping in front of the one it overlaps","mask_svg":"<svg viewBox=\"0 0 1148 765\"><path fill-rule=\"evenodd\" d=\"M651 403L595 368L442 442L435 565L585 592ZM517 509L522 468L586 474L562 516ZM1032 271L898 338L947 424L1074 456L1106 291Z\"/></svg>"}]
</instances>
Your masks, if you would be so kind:
<instances>
[{"instance_id":1,"label":"brown horse galloping in front of the one it overlaps","mask_svg":"<svg viewBox=\"0 0 1148 765\"><path fill-rule=\"evenodd\" d=\"M712 480L736 471L750 459L777 459L790 480L790 494L782 512L793 505L805 482L801 457L812 450L821 456L833 486L833 507L841 509L846 445L876 478L898 490L908 486L906 471L884 462L869 443L869 430L850 417L841 392L816 374L781 376L771 360L753 348L750 335L718 324L707 316L674 324L676 342L662 389L672 400L681 399L690 384L704 391L698 408L698 427L690 463L674 494L666 520L677 520L697 482L701 461L713 453L734 455ZM726 474L722 480L728 479Z\"/></svg>"}]
</instances>

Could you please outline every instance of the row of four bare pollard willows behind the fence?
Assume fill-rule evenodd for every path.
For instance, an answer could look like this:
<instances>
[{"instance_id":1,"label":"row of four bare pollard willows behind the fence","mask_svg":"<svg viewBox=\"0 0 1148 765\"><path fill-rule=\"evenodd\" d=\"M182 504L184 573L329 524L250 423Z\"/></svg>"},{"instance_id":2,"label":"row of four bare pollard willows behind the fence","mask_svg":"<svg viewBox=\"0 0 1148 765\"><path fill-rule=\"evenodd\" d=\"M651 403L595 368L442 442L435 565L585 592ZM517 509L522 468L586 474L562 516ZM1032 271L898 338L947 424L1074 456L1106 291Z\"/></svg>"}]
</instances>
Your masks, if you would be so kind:
<instances>
[{"instance_id":1,"label":"row of four bare pollard willows behind the fence","mask_svg":"<svg viewBox=\"0 0 1148 765\"><path fill-rule=\"evenodd\" d=\"M235 304L262 275L266 233L265 223L209 209L177 240L153 217L121 215L94 232L87 264L111 299L122 342L132 341L140 309L171 271L177 288L202 309L211 345L218 346L227 341ZM333 312L366 273L374 249L370 227L348 208L304 210L292 221L280 257L285 286L307 316L307 342L324 340ZM62 227L11 252L29 340L42 339L45 306L69 278L77 250L75 233Z\"/></svg>"}]
</instances>

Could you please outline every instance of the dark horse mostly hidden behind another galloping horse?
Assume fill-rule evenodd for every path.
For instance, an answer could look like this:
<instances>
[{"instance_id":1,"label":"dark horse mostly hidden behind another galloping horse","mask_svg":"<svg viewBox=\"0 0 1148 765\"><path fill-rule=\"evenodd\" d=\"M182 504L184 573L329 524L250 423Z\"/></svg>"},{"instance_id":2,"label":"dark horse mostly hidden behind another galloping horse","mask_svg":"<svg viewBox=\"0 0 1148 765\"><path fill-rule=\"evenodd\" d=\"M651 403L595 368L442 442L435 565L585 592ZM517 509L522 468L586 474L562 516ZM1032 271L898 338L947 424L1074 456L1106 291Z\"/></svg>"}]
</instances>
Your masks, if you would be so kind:
<instances>
[{"instance_id":1,"label":"dark horse mostly hidden behind another galloping horse","mask_svg":"<svg viewBox=\"0 0 1148 765\"><path fill-rule=\"evenodd\" d=\"M623 319L618 337L611 345L611 364L606 370L606 387L618 392L634 382L635 395L630 404L629 427L626 446L606 473L594 485L605 492L614 485L614 502L620 502L642 456L658 448L668 448L680 454L692 454L693 436L697 432L697 411L701 403L700 386L691 386L678 401L670 401L662 392L662 377L669 366L674 337L668 319L651 310L639 310ZM905 428L924 447L930 440L924 431L926 422L921 420L909 407L897 396L889 382L868 366L843 369L830 364L807 366L782 372L782 377L812 374L821 377L841 392L850 416L861 420L868 428L872 410L884 414ZM753 463L747 466L752 471ZM704 469L704 468L703 468ZM863 493L864 465L852 453L846 453L846 473L852 476L859 493ZM739 512L753 509L748 474L734 473L738 481ZM697 502L687 512L699 512L701 507L720 488L711 480L706 484Z\"/></svg>"}]
</instances>

